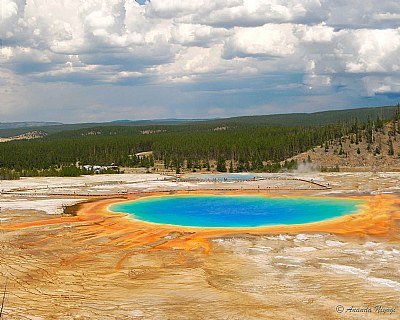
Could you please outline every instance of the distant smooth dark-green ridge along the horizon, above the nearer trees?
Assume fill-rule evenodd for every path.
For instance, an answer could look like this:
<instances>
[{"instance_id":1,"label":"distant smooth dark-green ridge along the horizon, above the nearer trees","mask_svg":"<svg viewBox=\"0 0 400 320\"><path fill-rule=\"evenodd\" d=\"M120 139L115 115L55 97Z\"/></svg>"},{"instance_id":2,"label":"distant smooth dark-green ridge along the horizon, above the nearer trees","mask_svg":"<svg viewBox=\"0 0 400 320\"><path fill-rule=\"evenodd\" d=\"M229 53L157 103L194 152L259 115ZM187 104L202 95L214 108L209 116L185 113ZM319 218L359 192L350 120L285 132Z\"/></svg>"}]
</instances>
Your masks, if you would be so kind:
<instances>
[{"instance_id":1,"label":"distant smooth dark-green ridge along the horizon, above the nearer trees","mask_svg":"<svg viewBox=\"0 0 400 320\"><path fill-rule=\"evenodd\" d=\"M243 116L224 119L161 119L161 120L120 120L104 123L75 123L75 124L57 124L42 125L35 123L34 126L25 123L23 127L8 126L4 129L0 126L0 137L6 138L20 135L33 130L42 131L47 134L53 134L61 131L79 130L85 128L94 128L99 126L122 126L122 127L144 127L144 126L174 126L174 125L193 125L205 124L210 126L224 125L261 125L269 127L291 127L291 126L315 126L334 124L342 121L358 119L361 122L367 121L368 118L375 119L379 116L381 119L390 118L396 107L369 107L349 110L331 110L315 113L290 113L290 114L274 114L274 115L257 115ZM6 124L4 124L5 126Z\"/></svg>"}]
</instances>

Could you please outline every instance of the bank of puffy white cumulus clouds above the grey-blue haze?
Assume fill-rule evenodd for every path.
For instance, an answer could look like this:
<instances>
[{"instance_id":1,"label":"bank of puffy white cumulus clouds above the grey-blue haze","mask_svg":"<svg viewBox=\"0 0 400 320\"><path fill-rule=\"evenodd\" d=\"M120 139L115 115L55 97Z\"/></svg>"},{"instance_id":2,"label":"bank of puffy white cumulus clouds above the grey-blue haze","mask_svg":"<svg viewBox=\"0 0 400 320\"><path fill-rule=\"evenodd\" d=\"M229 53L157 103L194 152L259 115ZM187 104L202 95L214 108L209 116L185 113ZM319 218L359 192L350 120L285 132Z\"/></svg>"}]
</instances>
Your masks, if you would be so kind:
<instances>
[{"instance_id":1,"label":"bank of puffy white cumulus clouds above the grey-blue haze","mask_svg":"<svg viewBox=\"0 0 400 320\"><path fill-rule=\"evenodd\" d=\"M243 81L284 74L288 83L253 94L277 97L285 86L298 96L400 92L395 0L0 1L4 86L186 83L201 91L224 82L232 93ZM234 101L244 108L267 105L242 94ZM229 114L221 99L211 104Z\"/></svg>"}]
</instances>

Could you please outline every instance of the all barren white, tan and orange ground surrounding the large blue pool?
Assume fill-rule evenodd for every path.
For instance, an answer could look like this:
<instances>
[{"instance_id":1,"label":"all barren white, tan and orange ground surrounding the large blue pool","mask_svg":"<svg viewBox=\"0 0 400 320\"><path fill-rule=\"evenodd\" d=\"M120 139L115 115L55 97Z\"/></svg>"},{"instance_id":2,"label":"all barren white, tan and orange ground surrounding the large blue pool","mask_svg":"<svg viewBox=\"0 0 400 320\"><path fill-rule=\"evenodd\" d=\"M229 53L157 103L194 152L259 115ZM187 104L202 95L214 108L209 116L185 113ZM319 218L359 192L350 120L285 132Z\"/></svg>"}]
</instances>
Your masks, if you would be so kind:
<instances>
[{"instance_id":1,"label":"all barren white, tan and orange ground surrounding the large blue pool","mask_svg":"<svg viewBox=\"0 0 400 320\"><path fill-rule=\"evenodd\" d=\"M398 319L400 173L271 177L2 181L3 319ZM316 226L202 233L148 227L97 209L61 216L63 205L85 199L207 189L368 197L373 210L337 222L331 232Z\"/></svg>"}]
</instances>

